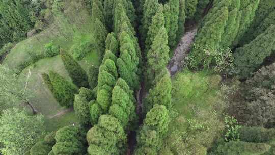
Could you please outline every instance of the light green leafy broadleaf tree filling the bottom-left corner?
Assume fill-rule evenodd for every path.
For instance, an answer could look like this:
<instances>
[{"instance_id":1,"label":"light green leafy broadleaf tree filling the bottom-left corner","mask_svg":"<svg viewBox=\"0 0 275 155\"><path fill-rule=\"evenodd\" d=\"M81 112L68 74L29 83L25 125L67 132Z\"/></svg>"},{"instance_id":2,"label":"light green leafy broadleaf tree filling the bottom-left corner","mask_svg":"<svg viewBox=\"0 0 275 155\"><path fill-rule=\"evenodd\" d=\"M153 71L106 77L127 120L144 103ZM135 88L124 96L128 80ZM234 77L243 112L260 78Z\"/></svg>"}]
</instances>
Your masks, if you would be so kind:
<instances>
[{"instance_id":1,"label":"light green leafy broadleaf tree filling the bottom-left corner","mask_svg":"<svg viewBox=\"0 0 275 155\"><path fill-rule=\"evenodd\" d=\"M12 108L2 111L0 142L3 154L24 154L29 151L44 132L42 115L31 116L26 111Z\"/></svg>"}]
</instances>

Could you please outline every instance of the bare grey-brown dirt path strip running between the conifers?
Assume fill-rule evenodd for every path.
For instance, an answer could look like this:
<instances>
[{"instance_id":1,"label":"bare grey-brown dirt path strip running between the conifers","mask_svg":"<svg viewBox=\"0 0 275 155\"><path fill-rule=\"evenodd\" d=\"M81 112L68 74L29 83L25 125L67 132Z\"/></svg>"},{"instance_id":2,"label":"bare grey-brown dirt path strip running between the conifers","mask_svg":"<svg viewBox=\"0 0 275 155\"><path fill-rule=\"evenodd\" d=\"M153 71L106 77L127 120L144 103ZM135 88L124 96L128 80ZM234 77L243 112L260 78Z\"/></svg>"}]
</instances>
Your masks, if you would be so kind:
<instances>
[{"instance_id":1,"label":"bare grey-brown dirt path strip running between the conifers","mask_svg":"<svg viewBox=\"0 0 275 155\"><path fill-rule=\"evenodd\" d=\"M197 34L197 28L190 29L181 38L177 48L174 51L174 56L170 60L167 68L171 75L177 73L177 71L182 69L182 64L184 58L190 51L191 45L194 42L195 35Z\"/></svg>"}]
</instances>

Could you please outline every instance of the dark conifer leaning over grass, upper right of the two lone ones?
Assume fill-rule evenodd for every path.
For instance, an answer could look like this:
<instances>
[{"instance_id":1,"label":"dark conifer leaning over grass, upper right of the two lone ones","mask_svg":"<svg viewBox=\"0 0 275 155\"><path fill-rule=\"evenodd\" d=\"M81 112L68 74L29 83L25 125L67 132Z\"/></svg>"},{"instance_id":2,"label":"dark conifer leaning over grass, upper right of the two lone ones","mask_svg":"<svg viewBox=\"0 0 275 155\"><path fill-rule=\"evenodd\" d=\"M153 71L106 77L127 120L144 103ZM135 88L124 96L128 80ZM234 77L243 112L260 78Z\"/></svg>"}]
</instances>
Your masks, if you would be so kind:
<instances>
[{"instance_id":1,"label":"dark conifer leaning over grass, upper right of the two lone ones","mask_svg":"<svg viewBox=\"0 0 275 155\"><path fill-rule=\"evenodd\" d=\"M73 83L78 87L88 87L88 76L86 71L77 63L73 57L64 50L60 50L61 59L68 71Z\"/></svg>"}]
</instances>

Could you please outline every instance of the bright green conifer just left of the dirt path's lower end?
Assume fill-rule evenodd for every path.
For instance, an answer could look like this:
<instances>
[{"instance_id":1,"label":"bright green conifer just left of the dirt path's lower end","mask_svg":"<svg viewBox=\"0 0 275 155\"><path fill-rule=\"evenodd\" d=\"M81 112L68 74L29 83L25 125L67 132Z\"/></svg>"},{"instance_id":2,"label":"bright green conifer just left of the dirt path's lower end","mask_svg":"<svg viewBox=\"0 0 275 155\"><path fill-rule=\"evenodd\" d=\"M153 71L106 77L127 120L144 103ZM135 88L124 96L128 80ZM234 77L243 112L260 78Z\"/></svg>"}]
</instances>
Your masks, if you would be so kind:
<instances>
[{"instance_id":1,"label":"bright green conifer just left of the dirt path's lower end","mask_svg":"<svg viewBox=\"0 0 275 155\"><path fill-rule=\"evenodd\" d=\"M147 54L148 79L152 81L155 76L166 67L169 61L168 36L164 27L160 28L151 49Z\"/></svg>"}]
</instances>

